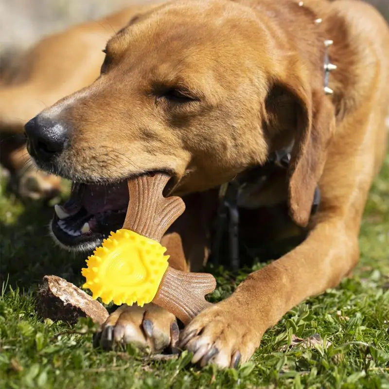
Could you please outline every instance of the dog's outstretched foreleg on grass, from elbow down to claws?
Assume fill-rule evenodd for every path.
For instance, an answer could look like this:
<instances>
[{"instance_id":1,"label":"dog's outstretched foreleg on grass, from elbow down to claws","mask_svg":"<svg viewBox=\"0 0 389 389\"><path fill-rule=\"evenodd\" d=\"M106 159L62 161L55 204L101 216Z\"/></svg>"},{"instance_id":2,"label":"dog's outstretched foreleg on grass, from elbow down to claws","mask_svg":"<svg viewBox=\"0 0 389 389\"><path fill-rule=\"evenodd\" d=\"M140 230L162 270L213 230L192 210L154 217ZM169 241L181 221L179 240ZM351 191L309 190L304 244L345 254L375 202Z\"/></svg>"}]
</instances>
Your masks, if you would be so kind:
<instances>
[{"instance_id":1,"label":"dog's outstretched foreleg on grass, from elbow down to claws","mask_svg":"<svg viewBox=\"0 0 389 389\"><path fill-rule=\"evenodd\" d=\"M299 247L250 274L228 299L194 318L180 347L192 351L193 362L201 365L246 361L267 328L308 296L335 286L357 258L355 231L341 220L322 221Z\"/></svg>"}]
</instances>

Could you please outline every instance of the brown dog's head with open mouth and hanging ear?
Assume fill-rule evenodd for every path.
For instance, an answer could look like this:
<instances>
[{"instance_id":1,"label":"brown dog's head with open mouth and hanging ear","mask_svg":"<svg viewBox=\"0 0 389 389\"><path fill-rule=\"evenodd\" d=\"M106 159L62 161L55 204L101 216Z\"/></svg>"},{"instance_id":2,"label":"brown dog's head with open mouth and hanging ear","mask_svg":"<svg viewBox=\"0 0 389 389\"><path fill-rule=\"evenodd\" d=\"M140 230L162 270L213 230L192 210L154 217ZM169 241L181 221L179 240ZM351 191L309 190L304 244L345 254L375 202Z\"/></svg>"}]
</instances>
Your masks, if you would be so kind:
<instances>
[{"instance_id":1,"label":"brown dog's head with open mouth and hanging ear","mask_svg":"<svg viewBox=\"0 0 389 389\"><path fill-rule=\"evenodd\" d=\"M26 124L38 166L74 181L60 243L91 248L120 228L128 177L165 171L169 190L203 191L293 140L291 214L306 224L334 115L320 68L272 23L225 0L162 5L107 43L91 86Z\"/></svg>"}]
</instances>

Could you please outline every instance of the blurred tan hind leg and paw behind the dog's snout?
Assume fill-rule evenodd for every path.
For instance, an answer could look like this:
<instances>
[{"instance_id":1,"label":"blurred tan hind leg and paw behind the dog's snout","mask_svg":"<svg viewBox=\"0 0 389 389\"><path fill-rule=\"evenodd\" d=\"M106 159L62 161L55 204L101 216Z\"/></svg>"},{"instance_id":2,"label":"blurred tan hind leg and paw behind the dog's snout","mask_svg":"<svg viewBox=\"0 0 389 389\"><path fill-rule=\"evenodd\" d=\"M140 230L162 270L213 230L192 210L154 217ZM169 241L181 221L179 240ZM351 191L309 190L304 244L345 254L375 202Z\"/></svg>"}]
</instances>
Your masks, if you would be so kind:
<instances>
[{"instance_id":1,"label":"blurred tan hind leg and paw behind the dog's snout","mask_svg":"<svg viewBox=\"0 0 389 389\"><path fill-rule=\"evenodd\" d=\"M79 4L69 3L79 11ZM90 12L96 1L85 3L89 4L89 7L84 7L83 10ZM115 5L117 8L118 5L131 3L134 1L117 0ZM107 11L106 7L99 4L100 9ZM110 4L113 7L112 2ZM24 53L15 51L15 47L10 46L11 42L8 40L7 50L3 50L0 59L0 163L11 174L11 189L21 197L50 199L61 189L60 177L36 170L25 147L24 124L46 106L51 106L60 98L86 87L98 77L104 59L102 49L106 41L127 24L135 13L147 7L147 1L142 4L44 37ZM43 1L37 9L42 7L43 12L44 5ZM52 1L46 5L53 9L55 6ZM29 24L25 20L26 15L20 20L17 18L22 9L26 8L25 2L23 6L19 4L19 7L17 1L8 6L9 9L2 10L3 16L14 11L13 16L19 25ZM35 2L32 6L35 6ZM32 13L34 9L31 8ZM8 35L16 35L15 37L29 41L26 35L38 34L36 30L39 29L40 20L37 15L35 17L36 21L30 21L30 28L25 29L24 34L23 29L15 29L16 21L11 26L8 25ZM64 24L64 21L61 21L60 24ZM6 26L4 20L2 27L5 42L8 36Z\"/></svg>"}]
</instances>

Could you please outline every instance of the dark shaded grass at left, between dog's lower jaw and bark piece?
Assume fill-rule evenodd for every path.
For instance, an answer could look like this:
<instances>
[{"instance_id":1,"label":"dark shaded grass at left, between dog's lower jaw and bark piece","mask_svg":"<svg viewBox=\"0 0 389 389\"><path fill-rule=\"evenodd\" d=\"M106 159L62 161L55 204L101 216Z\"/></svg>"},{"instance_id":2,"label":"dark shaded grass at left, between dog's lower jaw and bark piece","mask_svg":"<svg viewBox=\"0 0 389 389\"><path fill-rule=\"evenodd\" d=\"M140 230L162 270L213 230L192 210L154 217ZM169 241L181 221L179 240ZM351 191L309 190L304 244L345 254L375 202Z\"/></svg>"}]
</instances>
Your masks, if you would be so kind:
<instances>
[{"instance_id":1,"label":"dark shaded grass at left, between dog's lower jaw and bark piece","mask_svg":"<svg viewBox=\"0 0 389 389\"><path fill-rule=\"evenodd\" d=\"M0 282L29 290L44 275L55 274L80 284L86 255L54 244L48 228L53 208L39 202L22 204L8 193L1 195Z\"/></svg>"}]
</instances>

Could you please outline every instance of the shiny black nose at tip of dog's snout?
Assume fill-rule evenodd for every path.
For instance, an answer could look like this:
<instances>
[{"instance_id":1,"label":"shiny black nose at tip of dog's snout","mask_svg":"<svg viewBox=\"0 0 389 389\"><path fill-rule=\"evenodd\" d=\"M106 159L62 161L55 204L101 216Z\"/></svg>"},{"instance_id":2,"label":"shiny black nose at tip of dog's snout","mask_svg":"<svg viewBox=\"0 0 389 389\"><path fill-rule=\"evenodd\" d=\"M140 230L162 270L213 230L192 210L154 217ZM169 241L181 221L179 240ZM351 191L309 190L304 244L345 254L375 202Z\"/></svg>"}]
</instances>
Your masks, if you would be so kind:
<instances>
[{"instance_id":1,"label":"shiny black nose at tip of dog's snout","mask_svg":"<svg viewBox=\"0 0 389 389\"><path fill-rule=\"evenodd\" d=\"M65 127L39 115L24 126L27 135L28 152L37 160L49 161L60 154L67 145Z\"/></svg>"}]
</instances>

